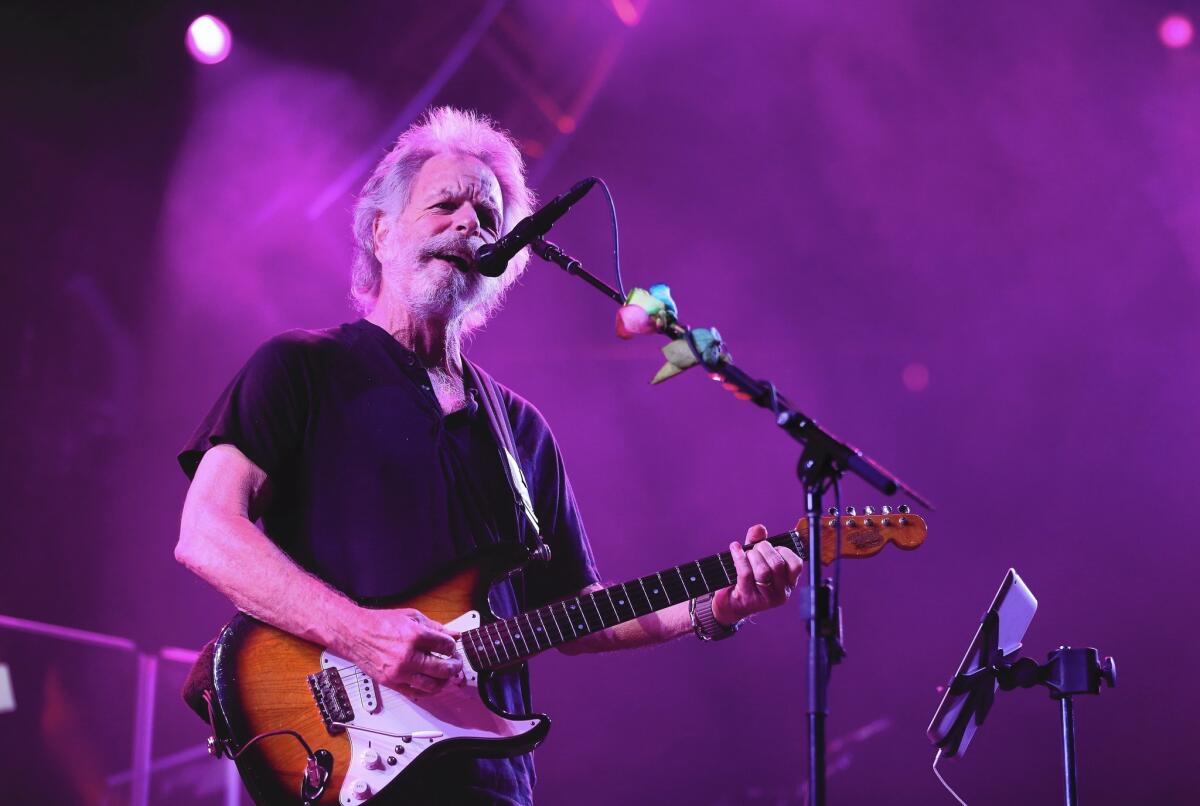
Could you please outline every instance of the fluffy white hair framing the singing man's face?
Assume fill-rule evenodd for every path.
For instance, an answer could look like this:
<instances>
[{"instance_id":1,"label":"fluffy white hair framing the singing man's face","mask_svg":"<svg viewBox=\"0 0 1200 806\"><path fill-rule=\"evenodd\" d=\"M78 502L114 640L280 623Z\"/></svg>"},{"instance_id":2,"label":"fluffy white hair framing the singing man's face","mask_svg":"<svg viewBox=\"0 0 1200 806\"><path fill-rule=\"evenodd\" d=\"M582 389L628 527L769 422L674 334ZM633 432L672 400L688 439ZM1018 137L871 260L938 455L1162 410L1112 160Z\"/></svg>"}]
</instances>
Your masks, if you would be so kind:
<instances>
[{"instance_id":1,"label":"fluffy white hair framing the singing man's face","mask_svg":"<svg viewBox=\"0 0 1200 806\"><path fill-rule=\"evenodd\" d=\"M534 194L526 187L524 160L512 136L496 121L469 109L433 107L396 138L395 145L371 172L371 178L354 205L354 270L350 278L350 299L354 307L366 315L379 297L383 266L374 254L374 222L380 213L395 215L408 204L413 181L421 166L439 154L461 154L475 157L491 168L500 184L503 197L503 228L508 233L529 215ZM500 278L496 294L488 295L469 311L463 330L482 325L499 306L504 291L521 277L529 263L529 251L522 249Z\"/></svg>"}]
</instances>

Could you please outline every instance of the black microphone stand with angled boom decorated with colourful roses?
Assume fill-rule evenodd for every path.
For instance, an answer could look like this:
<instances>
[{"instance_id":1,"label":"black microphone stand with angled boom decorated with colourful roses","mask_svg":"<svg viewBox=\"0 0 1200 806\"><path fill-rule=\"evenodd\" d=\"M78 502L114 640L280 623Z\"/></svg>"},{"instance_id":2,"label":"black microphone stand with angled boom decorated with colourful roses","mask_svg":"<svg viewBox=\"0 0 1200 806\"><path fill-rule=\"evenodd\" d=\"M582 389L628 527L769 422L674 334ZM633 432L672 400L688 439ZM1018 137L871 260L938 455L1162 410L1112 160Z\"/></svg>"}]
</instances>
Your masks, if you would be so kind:
<instances>
[{"instance_id":1,"label":"black microphone stand with angled boom decorated with colourful roses","mask_svg":"<svg viewBox=\"0 0 1200 806\"><path fill-rule=\"evenodd\" d=\"M626 303L625 297L617 289L588 272L578 260L563 252L554 243L538 237L532 241L530 248L538 257L559 266L566 273L581 278L617 305ZM692 335L694 331L677 321L673 315L660 330L671 339L686 339L697 362L714 379L721 380L726 387L736 390L738 397L764 409L770 409L775 415L775 425L804 446L797 465L797 475L804 488L804 510L809 524L809 595L806 600L802 600L802 609L809 632L809 804L824 806L829 673L832 666L845 657L846 651L841 642L841 614L833 612L833 583L821 578L822 495L842 475L851 473L884 495L894 495L902 491L929 509L934 509L932 504L894 474L868 458L860 450L821 428L812 417L797 409L780 395L774 384L767 380L756 380L746 374L733 363L732 356L720 342L714 344L715 349L698 349Z\"/></svg>"}]
</instances>

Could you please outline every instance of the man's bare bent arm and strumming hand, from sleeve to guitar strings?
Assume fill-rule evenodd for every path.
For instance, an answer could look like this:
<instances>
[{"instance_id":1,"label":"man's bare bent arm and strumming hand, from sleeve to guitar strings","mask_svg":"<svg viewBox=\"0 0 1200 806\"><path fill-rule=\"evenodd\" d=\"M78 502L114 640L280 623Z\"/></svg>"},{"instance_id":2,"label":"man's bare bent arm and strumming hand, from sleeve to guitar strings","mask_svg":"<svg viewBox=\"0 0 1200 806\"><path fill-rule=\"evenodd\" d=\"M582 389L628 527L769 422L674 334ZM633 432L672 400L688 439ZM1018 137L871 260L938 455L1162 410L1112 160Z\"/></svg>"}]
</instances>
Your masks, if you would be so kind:
<instances>
[{"instance_id":1,"label":"man's bare bent arm and strumming hand, from sleeve to guitar strings","mask_svg":"<svg viewBox=\"0 0 1200 806\"><path fill-rule=\"evenodd\" d=\"M184 501L175 559L244 613L353 660L391 687L437 691L461 672L444 626L410 608L359 607L259 531L254 521L269 495L266 474L236 447L208 450Z\"/></svg>"}]
</instances>

